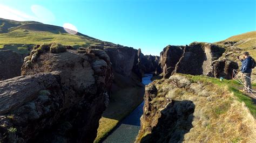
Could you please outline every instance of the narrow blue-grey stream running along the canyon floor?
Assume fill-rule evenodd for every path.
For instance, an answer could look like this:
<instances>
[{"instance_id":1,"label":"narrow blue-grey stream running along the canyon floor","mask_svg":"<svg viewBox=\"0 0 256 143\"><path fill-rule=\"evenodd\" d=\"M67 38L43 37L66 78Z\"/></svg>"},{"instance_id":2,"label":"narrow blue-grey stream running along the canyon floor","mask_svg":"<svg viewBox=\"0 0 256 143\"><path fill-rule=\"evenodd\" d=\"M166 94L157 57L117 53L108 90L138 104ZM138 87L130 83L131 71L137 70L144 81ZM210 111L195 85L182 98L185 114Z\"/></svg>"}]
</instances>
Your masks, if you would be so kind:
<instances>
[{"instance_id":1,"label":"narrow blue-grey stream running along the canyon floor","mask_svg":"<svg viewBox=\"0 0 256 143\"><path fill-rule=\"evenodd\" d=\"M145 74L142 83L147 85L151 82L152 74ZM103 142L134 142L140 129L140 117L143 115L143 105L140 104L127 116Z\"/></svg>"}]
</instances>

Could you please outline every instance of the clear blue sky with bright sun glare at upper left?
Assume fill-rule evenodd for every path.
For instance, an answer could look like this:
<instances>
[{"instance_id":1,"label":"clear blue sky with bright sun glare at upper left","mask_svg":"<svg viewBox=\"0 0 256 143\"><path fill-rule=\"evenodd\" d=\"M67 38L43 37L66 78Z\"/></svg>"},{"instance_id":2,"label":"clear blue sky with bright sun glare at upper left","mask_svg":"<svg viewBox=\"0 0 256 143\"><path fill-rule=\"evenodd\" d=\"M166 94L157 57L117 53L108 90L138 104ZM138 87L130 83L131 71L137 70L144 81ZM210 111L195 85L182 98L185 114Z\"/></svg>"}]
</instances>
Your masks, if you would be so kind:
<instances>
[{"instance_id":1,"label":"clear blue sky with bright sun glare at upper left","mask_svg":"<svg viewBox=\"0 0 256 143\"><path fill-rule=\"evenodd\" d=\"M255 0L0 0L2 18L70 23L80 33L152 55L167 45L215 42L255 31L255 15Z\"/></svg>"}]
</instances>

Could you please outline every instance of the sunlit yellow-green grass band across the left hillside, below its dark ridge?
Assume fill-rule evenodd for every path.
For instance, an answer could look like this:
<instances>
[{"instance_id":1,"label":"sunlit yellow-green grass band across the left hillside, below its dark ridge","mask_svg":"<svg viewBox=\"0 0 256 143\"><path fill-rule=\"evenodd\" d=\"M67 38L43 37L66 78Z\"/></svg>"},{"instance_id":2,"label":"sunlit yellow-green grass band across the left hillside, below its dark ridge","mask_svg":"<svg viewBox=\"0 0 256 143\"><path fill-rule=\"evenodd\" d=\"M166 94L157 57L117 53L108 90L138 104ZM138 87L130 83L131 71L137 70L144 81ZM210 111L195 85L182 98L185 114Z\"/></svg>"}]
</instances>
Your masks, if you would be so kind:
<instances>
[{"instance_id":1,"label":"sunlit yellow-green grass band across the left hillside, below its dark ridge","mask_svg":"<svg viewBox=\"0 0 256 143\"><path fill-rule=\"evenodd\" d=\"M11 49L22 55L28 55L30 52L29 48L23 45L41 45L50 44L52 42L71 45L75 48L99 44L99 41L83 37L82 35L72 35L69 33L55 34L51 32L22 29L9 33L0 33L0 49Z\"/></svg>"}]
</instances>

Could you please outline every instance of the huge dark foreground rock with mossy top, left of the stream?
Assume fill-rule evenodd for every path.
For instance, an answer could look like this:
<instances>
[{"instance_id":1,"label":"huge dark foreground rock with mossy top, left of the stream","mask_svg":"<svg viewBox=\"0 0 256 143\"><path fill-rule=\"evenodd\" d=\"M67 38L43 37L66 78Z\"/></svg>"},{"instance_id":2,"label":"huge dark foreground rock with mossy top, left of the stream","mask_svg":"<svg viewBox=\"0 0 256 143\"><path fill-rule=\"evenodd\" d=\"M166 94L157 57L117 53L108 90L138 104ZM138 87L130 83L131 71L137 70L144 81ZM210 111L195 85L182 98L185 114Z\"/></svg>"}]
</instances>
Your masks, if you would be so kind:
<instances>
[{"instance_id":1,"label":"huge dark foreground rock with mossy top, left of the stream","mask_svg":"<svg viewBox=\"0 0 256 143\"><path fill-rule=\"evenodd\" d=\"M92 142L113 80L102 50L35 47L22 75L0 82L1 142ZM70 47L69 47L70 48Z\"/></svg>"}]
</instances>

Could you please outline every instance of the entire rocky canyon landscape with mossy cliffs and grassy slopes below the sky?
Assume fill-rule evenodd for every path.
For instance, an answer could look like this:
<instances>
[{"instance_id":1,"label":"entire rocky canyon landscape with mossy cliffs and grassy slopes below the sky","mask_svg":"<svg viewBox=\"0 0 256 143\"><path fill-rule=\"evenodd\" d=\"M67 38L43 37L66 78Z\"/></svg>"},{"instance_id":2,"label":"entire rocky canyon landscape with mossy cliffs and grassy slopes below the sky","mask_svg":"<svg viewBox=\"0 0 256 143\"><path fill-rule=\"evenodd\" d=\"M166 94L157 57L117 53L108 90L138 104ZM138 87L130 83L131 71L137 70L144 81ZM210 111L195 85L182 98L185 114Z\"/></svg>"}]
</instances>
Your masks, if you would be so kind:
<instances>
[{"instance_id":1,"label":"entire rocky canyon landscape with mossy cliffs and grassy slopes below the sky","mask_svg":"<svg viewBox=\"0 0 256 143\"><path fill-rule=\"evenodd\" d=\"M168 45L153 56L59 26L0 22L0 37L26 33L0 43L0 142L107 142L137 106L135 142L255 141L255 105L231 80L244 42ZM33 41L35 31L67 40Z\"/></svg>"}]
</instances>

